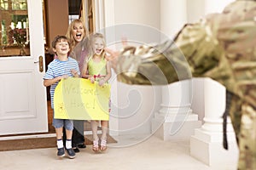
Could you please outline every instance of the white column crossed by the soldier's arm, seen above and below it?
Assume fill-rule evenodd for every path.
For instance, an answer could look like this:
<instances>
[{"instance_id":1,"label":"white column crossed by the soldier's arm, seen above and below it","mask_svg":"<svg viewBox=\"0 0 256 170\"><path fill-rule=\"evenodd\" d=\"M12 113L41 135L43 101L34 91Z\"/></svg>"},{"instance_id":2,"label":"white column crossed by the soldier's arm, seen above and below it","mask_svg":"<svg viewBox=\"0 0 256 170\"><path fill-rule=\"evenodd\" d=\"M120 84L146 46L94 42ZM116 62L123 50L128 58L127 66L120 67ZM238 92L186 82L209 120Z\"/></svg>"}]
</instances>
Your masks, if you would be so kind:
<instances>
[{"instance_id":1,"label":"white column crossed by the soldier's arm, seen above and below it","mask_svg":"<svg viewBox=\"0 0 256 170\"><path fill-rule=\"evenodd\" d=\"M160 1L160 29L174 37L187 22L186 0ZM191 80L175 82L162 88L161 109L155 113L152 131L161 139L189 139L195 127L201 127L191 111Z\"/></svg>"}]
</instances>

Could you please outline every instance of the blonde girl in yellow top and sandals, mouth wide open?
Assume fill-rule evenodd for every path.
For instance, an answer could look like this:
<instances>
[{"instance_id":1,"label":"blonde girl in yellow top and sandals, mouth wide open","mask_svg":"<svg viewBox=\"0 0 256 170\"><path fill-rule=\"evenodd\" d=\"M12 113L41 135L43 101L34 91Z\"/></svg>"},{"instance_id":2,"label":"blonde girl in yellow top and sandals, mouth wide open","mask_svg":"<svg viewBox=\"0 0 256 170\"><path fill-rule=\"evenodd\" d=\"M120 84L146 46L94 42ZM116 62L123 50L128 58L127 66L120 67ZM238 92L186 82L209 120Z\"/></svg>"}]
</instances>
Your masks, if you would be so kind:
<instances>
[{"instance_id":1,"label":"blonde girl in yellow top and sandals, mouth wide open","mask_svg":"<svg viewBox=\"0 0 256 170\"><path fill-rule=\"evenodd\" d=\"M103 86L111 77L111 68L109 62L105 59L104 48L106 47L106 42L101 33L95 33L90 39L92 53L84 65L82 76L88 78L92 83L96 81L99 83L99 86ZM99 121L90 122L93 136L92 150L94 151L107 149L108 121L101 121L102 137L100 144L97 135L98 125Z\"/></svg>"}]
</instances>

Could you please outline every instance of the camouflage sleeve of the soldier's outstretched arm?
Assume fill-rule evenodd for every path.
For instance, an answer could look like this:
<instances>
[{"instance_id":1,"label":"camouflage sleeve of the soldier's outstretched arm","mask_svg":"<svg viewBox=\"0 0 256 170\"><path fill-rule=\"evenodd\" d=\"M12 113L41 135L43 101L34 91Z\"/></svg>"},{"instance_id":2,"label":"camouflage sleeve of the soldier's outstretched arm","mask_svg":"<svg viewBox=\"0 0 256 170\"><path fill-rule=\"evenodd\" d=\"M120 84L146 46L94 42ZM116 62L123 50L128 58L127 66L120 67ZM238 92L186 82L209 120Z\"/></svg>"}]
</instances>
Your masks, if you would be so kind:
<instances>
[{"instance_id":1,"label":"camouflage sleeve of the soldier's outstretched arm","mask_svg":"<svg viewBox=\"0 0 256 170\"><path fill-rule=\"evenodd\" d=\"M149 85L203 77L218 64L217 46L210 26L186 25L174 42L124 48L116 64L118 80Z\"/></svg>"}]
</instances>

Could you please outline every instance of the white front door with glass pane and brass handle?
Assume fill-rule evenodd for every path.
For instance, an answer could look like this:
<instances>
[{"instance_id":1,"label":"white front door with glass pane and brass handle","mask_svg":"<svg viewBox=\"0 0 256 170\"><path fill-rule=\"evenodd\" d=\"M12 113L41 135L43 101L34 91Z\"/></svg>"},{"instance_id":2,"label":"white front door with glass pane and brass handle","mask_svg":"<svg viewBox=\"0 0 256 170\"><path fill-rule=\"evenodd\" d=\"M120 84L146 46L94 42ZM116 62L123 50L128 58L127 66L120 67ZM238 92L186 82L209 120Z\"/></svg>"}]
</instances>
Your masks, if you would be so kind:
<instances>
[{"instance_id":1,"label":"white front door with glass pane and brass handle","mask_svg":"<svg viewBox=\"0 0 256 170\"><path fill-rule=\"evenodd\" d=\"M42 0L9 0L8 2L9 4L2 3L0 9L2 13L0 135L48 132L46 90L43 86L44 71L40 71L39 66L39 56L42 56L40 60L44 62ZM4 8L6 11L3 10ZM4 19L4 14L8 11L12 11L15 16L8 18L9 15L6 14ZM26 14L28 20L21 20L22 15ZM26 44L27 42L29 44L26 45L28 47L25 56L14 54L15 50L19 50L18 42L22 42L9 36L10 29L15 28L29 34L29 37L26 37ZM41 69L44 69L44 66L41 65Z\"/></svg>"}]
</instances>

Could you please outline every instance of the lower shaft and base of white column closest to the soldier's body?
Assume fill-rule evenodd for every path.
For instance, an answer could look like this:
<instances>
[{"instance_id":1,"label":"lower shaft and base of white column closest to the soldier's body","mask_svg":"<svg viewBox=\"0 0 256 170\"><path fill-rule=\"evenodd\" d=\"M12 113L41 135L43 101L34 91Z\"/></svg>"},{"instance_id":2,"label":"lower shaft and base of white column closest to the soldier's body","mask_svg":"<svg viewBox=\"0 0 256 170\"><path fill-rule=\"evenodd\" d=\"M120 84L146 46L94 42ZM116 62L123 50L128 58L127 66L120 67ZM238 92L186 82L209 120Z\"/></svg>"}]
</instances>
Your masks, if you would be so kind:
<instances>
[{"instance_id":1,"label":"lower shaft and base of white column closest to the soldier's body","mask_svg":"<svg viewBox=\"0 0 256 170\"><path fill-rule=\"evenodd\" d=\"M205 117L201 128L195 129L190 139L190 154L209 166L234 166L238 149L230 118L227 124L229 150L223 147L223 119L225 111L225 88L220 83L206 78L204 82ZM203 104L202 104L203 105Z\"/></svg>"}]
</instances>

